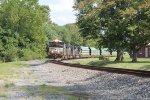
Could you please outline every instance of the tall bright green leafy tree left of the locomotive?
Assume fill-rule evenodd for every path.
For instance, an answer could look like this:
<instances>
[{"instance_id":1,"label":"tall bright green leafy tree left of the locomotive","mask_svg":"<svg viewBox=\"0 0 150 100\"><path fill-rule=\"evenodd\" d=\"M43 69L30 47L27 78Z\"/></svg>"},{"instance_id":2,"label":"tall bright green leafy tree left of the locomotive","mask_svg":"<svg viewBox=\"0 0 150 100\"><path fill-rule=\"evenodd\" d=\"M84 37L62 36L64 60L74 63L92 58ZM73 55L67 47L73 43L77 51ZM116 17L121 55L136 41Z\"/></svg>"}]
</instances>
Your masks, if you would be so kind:
<instances>
[{"instance_id":1,"label":"tall bright green leafy tree left of the locomotive","mask_svg":"<svg viewBox=\"0 0 150 100\"><path fill-rule=\"evenodd\" d=\"M14 50L14 55L19 58L27 58L26 54L41 58L46 41L44 29L50 21L49 11L47 6L39 5L38 0L4 0L0 9L0 38L5 53L0 52L0 55L9 56L7 50Z\"/></svg>"}]
</instances>

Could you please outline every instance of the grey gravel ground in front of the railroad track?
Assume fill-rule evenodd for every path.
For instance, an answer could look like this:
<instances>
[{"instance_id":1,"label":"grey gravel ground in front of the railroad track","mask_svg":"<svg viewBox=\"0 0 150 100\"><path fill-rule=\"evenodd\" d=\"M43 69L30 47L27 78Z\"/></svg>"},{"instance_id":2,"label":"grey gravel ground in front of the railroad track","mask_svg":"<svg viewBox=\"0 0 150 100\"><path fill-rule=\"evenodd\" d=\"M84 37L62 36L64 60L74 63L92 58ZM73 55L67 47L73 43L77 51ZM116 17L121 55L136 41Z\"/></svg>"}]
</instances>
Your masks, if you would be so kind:
<instances>
[{"instance_id":1,"label":"grey gravel ground in front of the railroad track","mask_svg":"<svg viewBox=\"0 0 150 100\"><path fill-rule=\"evenodd\" d=\"M48 61L33 60L27 63L31 67L21 69L23 73L22 79L14 81L16 87L42 84L60 86L66 90L74 91L74 96L82 97L84 100L150 99L150 78L72 68L52 64ZM24 95L24 92L20 93L20 95ZM10 97L13 98L10 100L15 100L18 96L15 93L11 93ZM41 100L38 98L37 95L34 98L31 96L25 99ZM46 95L44 100L66 100L63 94L60 94L59 98L52 98Z\"/></svg>"}]
</instances>

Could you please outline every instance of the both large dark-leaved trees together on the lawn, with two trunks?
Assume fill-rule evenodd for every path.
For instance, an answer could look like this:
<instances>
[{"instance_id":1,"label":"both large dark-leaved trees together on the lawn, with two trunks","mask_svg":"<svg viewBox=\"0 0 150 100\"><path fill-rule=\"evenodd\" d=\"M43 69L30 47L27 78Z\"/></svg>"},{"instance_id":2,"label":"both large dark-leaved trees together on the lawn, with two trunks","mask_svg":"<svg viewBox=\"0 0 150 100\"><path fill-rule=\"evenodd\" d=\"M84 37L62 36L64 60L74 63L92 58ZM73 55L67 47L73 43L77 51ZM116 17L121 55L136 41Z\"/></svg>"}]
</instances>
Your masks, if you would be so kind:
<instances>
[{"instance_id":1,"label":"both large dark-leaved trees together on the lawn, with two trunks","mask_svg":"<svg viewBox=\"0 0 150 100\"><path fill-rule=\"evenodd\" d=\"M77 24L85 38L97 39L99 47L123 52L137 52L150 43L150 0L75 0Z\"/></svg>"}]
</instances>

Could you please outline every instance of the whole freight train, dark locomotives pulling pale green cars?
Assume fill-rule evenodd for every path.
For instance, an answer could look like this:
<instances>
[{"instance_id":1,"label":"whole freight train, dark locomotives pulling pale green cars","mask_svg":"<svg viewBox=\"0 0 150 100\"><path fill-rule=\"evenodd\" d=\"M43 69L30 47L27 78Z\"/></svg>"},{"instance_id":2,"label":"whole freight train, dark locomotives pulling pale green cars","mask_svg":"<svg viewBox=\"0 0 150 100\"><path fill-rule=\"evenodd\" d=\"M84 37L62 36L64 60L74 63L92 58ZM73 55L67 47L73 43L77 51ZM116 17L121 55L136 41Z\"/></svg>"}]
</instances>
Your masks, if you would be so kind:
<instances>
[{"instance_id":1,"label":"whole freight train, dark locomotives pulling pale green cars","mask_svg":"<svg viewBox=\"0 0 150 100\"><path fill-rule=\"evenodd\" d=\"M103 55L110 55L106 48L102 49ZM47 55L49 58L61 58L61 59L72 59L72 58L83 58L83 57L99 57L100 50L94 47L84 47L78 45L67 45L63 41L58 39L53 40L47 45ZM113 52L112 56L116 56Z\"/></svg>"}]
</instances>

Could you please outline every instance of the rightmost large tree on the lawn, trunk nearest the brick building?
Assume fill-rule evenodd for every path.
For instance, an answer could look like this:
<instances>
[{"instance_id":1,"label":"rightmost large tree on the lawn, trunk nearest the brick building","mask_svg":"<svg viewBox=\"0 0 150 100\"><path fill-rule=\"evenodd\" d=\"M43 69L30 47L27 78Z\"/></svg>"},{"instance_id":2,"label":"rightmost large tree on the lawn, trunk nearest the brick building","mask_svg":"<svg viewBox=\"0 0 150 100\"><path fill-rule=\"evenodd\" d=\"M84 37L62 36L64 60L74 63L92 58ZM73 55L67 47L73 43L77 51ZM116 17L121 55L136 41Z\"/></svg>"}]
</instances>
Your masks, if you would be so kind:
<instances>
[{"instance_id":1,"label":"rightmost large tree on the lawn, trunk nearest the brick building","mask_svg":"<svg viewBox=\"0 0 150 100\"><path fill-rule=\"evenodd\" d=\"M150 1L131 0L121 14L127 24L127 42L132 51L132 62L137 62L137 52L150 42Z\"/></svg>"}]
</instances>

